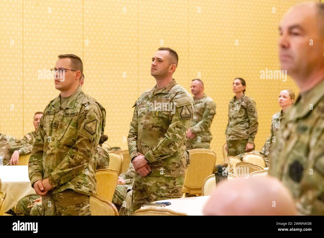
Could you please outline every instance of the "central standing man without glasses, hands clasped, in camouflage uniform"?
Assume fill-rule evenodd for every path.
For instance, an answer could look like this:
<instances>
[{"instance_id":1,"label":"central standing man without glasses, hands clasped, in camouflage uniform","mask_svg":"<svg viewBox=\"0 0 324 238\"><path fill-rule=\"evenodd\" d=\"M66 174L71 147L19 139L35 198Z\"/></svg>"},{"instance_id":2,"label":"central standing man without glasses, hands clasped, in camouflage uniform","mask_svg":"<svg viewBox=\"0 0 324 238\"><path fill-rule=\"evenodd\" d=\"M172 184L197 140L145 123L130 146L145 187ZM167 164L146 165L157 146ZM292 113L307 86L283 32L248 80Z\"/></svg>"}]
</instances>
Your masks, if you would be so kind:
<instances>
[{"instance_id":1,"label":"central standing man without glasses, hands clasped, in camouflage uniform","mask_svg":"<svg viewBox=\"0 0 324 238\"><path fill-rule=\"evenodd\" d=\"M156 86L135 102L128 135L134 168L133 212L146 202L181 197L187 161L186 133L193 99L172 79L178 54L161 47L152 58Z\"/></svg>"}]
</instances>

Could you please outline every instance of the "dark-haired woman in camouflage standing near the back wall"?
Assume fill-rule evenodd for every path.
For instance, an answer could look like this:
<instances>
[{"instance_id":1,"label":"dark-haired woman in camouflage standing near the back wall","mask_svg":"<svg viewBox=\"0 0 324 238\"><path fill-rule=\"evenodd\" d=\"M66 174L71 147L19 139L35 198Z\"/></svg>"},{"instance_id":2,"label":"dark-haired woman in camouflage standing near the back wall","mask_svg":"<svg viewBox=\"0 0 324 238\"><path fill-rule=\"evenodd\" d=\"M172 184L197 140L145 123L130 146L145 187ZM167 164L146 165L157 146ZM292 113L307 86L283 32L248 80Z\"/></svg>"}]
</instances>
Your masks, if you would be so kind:
<instances>
[{"instance_id":1,"label":"dark-haired woman in camouflage standing near the back wall","mask_svg":"<svg viewBox=\"0 0 324 238\"><path fill-rule=\"evenodd\" d=\"M245 80L236 78L233 82L235 96L228 105L226 126L226 149L228 156L237 156L254 149L254 138L258 131L256 104L245 96Z\"/></svg>"}]
</instances>

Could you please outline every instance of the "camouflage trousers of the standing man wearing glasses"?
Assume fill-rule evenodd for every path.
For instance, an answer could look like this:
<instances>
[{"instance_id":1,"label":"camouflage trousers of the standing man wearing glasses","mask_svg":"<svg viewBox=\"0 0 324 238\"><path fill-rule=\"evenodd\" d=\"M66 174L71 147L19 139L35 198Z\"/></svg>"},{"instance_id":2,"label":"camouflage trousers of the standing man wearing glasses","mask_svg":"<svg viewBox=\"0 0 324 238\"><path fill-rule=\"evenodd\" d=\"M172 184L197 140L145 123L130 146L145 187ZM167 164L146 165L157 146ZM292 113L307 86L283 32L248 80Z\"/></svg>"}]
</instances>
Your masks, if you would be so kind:
<instances>
[{"instance_id":1,"label":"camouflage trousers of the standing man wearing glasses","mask_svg":"<svg viewBox=\"0 0 324 238\"><path fill-rule=\"evenodd\" d=\"M42 197L42 215L89 216L90 196L66 189L58 193L47 193Z\"/></svg>"}]
</instances>

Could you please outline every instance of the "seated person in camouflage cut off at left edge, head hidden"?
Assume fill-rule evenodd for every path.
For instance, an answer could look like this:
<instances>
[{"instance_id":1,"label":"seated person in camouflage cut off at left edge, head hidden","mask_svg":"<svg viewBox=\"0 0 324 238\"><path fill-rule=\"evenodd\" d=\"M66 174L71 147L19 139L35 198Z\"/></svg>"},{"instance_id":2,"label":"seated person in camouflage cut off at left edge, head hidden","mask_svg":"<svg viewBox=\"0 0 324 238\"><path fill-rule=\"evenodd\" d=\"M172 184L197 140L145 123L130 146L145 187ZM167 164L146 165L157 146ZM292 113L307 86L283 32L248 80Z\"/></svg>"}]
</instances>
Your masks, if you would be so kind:
<instances>
[{"instance_id":1,"label":"seated person in camouflage cut off at left edge, head hidden","mask_svg":"<svg viewBox=\"0 0 324 238\"><path fill-rule=\"evenodd\" d=\"M4 157L3 165L18 165L18 161L13 161L11 158L17 154L25 155L31 152L32 145L29 145L23 140L18 140L11 135L0 133L0 156Z\"/></svg>"}]
</instances>

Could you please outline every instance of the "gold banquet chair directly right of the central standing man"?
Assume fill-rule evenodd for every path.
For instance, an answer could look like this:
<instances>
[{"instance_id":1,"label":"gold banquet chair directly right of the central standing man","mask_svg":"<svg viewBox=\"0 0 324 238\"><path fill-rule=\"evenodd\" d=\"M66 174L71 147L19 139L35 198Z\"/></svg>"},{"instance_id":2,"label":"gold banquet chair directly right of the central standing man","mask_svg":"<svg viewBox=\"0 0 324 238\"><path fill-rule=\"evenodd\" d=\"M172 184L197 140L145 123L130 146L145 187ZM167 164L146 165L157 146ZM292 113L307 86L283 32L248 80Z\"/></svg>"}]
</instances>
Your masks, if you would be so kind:
<instances>
[{"instance_id":1,"label":"gold banquet chair directly right of the central standing man","mask_svg":"<svg viewBox=\"0 0 324 238\"><path fill-rule=\"evenodd\" d=\"M213 173L216 163L216 153L209 149L189 150L190 165L184 176L182 197L186 194L200 195L203 182L206 177Z\"/></svg>"}]
</instances>

